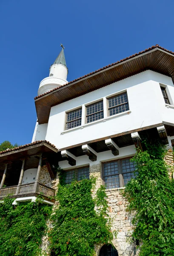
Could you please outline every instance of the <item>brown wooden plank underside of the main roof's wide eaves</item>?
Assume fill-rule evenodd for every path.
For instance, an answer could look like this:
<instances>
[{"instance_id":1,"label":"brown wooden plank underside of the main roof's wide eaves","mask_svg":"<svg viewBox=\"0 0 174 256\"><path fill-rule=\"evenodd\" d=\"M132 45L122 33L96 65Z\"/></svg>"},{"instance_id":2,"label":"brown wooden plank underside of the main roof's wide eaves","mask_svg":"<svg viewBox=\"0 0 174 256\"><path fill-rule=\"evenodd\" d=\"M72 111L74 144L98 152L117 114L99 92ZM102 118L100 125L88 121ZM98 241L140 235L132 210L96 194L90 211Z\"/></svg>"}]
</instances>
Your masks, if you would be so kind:
<instances>
[{"instance_id":1,"label":"brown wooden plank underside of the main roof's wide eaves","mask_svg":"<svg viewBox=\"0 0 174 256\"><path fill-rule=\"evenodd\" d=\"M148 69L170 76L174 81L174 54L160 48L151 49L40 96L35 99L38 122L39 124L48 122L52 106Z\"/></svg>"}]
</instances>

